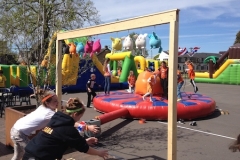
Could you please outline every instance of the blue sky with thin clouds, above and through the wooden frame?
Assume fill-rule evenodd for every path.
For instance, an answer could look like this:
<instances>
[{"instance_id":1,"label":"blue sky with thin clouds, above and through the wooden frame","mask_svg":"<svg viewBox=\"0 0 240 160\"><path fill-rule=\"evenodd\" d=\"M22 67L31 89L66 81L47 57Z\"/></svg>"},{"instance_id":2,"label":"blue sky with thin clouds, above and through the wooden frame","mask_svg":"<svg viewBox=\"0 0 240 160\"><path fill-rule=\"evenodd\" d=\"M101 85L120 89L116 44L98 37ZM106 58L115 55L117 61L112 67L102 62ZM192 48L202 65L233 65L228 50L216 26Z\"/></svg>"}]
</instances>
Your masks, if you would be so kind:
<instances>
[{"instance_id":1,"label":"blue sky with thin clouds, above and through the wooden frame","mask_svg":"<svg viewBox=\"0 0 240 160\"><path fill-rule=\"evenodd\" d=\"M218 53L233 45L240 31L240 0L93 0L102 22L133 18L166 10L180 9L179 47L200 47L199 53ZM158 25L130 31L99 35L102 45L111 46L110 37L128 33L155 32L162 41L163 50L169 47L169 25ZM147 40L148 41L148 40ZM149 44L147 43L149 49ZM152 55L157 50L150 50Z\"/></svg>"}]
</instances>

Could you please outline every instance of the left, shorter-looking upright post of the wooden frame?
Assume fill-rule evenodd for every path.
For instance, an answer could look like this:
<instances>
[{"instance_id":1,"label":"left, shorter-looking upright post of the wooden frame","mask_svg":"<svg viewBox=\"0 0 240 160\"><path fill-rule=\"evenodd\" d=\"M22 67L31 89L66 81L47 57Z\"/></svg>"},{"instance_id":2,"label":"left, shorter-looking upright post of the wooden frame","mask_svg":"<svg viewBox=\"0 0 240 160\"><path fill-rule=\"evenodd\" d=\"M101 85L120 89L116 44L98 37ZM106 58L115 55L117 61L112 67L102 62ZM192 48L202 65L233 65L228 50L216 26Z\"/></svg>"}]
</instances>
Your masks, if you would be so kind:
<instances>
[{"instance_id":1,"label":"left, shorter-looking upright post of the wooden frame","mask_svg":"<svg viewBox=\"0 0 240 160\"><path fill-rule=\"evenodd\" d=\"M62 101L62 41L56 40L56 94L58 96L58 110Z\"/></svg>"}]
</instances>

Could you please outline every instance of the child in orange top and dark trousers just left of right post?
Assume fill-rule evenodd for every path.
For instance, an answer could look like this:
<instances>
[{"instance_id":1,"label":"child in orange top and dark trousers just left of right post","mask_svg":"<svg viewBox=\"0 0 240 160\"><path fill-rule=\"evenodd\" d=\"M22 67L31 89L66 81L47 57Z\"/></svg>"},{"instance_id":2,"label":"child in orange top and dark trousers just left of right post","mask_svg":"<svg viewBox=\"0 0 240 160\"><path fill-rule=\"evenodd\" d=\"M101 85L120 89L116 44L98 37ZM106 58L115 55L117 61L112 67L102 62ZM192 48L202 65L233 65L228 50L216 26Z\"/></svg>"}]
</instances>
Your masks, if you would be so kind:
<instances>
[{"instance_id":1,"label":"child in orange top and dark trousers just left of right post","mask_svg":"<svg viewBox=\"0 0 240 160\"><path fill-rule=\"evenodd\" d=\"M161 62L161 67L158 70L161 86L163 88L163 97L168 99L168 67L165 61Z\"/></svg>"}]
</instances>

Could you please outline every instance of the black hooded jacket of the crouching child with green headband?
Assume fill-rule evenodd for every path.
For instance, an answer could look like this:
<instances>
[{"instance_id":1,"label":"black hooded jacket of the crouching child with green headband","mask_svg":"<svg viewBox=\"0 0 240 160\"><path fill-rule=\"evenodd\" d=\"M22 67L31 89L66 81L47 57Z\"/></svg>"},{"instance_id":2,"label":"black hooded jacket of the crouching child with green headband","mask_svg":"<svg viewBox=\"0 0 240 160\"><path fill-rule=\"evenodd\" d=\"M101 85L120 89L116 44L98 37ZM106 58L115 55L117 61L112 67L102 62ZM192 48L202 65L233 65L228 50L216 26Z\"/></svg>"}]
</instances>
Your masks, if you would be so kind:
<instances>
[{"instance_id":1,"label":"black hooded jacket of the crouching child with green headband","mask_svg":"<svg viewBox=\"0 0 240 160\"><path fill-rule=\"evenodd\" d=\"M74 123L72 117L56 112L48 125L27 144L25 151L40 160L61 159L68 147L86 153L89 146Z\"/></svg>"}]
</instances>

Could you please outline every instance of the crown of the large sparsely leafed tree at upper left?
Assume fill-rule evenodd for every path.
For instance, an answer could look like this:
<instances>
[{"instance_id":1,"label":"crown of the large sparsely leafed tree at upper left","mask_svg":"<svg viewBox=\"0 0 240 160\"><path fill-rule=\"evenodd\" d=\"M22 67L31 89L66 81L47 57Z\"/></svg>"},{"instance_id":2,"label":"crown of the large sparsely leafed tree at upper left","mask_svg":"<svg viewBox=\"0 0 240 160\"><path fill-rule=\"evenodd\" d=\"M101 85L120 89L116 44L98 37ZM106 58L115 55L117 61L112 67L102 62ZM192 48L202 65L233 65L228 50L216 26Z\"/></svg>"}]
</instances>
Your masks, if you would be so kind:
<instances>
[{"instance_id":1,"label":"crown of the large sparsely leafed tree at upper left","mask_svg":"<svg viewBox=\"0 0 240 160\"><path fill-rule=\"evenodd\" d=\"M91 0L0 0L1 35L19 50L44 54L53 32L99 23Z\"/></svg>"}]
</instances>

